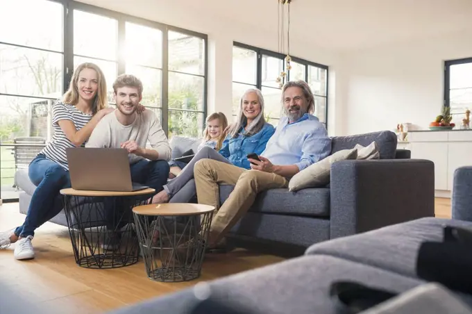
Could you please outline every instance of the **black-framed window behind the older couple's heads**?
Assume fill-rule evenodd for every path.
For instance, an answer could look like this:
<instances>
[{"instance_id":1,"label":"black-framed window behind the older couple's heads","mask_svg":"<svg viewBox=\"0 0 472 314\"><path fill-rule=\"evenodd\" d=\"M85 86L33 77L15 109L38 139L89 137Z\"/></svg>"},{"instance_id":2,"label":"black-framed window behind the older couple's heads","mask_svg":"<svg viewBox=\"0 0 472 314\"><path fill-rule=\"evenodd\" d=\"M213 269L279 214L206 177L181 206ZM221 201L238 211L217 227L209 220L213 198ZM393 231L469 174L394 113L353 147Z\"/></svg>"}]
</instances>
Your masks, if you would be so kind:
<instances>
[{"instance_id":1,"label":"black-framed window behind the older couple's heads","mask_svg":"<svg viewBox=\"0 0 472 314\"><path fill-rule=\"evenodd\" d=\"M282 91L276 78L285 70L285 56L246 44L233 46L233 117L239 110L239 99L248 88L259 88L264 96L264 115L269 123L277 125L283 115L280 99ZM328 113L328 67L292 57L292 69L285 81L303 80L314 94L314 115L326 125Z\"/></svg>"}]
</instances>

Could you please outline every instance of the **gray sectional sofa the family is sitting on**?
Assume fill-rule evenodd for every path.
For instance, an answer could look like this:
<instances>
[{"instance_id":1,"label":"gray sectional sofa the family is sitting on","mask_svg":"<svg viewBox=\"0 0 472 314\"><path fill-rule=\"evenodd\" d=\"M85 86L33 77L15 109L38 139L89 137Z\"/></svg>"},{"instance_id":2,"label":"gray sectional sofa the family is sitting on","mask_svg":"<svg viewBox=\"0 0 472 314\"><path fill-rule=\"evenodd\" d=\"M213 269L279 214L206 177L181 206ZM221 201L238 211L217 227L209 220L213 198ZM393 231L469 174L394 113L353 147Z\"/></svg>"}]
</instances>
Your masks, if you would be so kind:
<instances>
[{"instance_id":1,"label":"gray sectional sofa the family is sitting on","mask_svg":"<svg viewBox=\"0 0 472 314\"><path fill-rule=\"evenodd\" d=\"M303 254L313 243L350 236L382 226L434 217L434 164L412 160L410 151L396 149L390 131L332 138L332 153L367 146L375 141L380 160L345 160L334 163L330 184L298 192L276 189L262 192L254 206L230 232L235 245L269 250L288 256ZM174 137L173 157L199 140ZM28 210L35 186L26 170L15 179L24 192L19 195L21 213ZM221 203L233 186L221 185ZM51 220L67 225L63 211Z\"/></svg>"}]
</instances>

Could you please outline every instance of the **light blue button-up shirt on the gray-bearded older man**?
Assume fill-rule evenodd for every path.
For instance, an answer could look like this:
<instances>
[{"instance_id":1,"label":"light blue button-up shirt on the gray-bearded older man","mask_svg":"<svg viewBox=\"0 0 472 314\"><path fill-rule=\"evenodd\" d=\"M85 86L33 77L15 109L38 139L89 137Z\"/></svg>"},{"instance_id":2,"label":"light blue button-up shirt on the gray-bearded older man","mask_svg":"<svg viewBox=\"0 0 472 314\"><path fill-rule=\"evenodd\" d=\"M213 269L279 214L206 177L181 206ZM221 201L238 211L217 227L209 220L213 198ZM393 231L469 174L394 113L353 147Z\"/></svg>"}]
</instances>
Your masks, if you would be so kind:
<instances>
[{"instance_id":1,"label":"light blue button-up shirt on the gray-bearded older man","mask_svg":"<svg viewBox=\"0 0 472 314\"><path fill-rule=\"evenodd\" d=\"M261 156L273 165L297 165L301 171L330 153L331 139L326 127L317 117L305 113L290 124L288 117L281 118Z\"/></svg>"}]
</instances>

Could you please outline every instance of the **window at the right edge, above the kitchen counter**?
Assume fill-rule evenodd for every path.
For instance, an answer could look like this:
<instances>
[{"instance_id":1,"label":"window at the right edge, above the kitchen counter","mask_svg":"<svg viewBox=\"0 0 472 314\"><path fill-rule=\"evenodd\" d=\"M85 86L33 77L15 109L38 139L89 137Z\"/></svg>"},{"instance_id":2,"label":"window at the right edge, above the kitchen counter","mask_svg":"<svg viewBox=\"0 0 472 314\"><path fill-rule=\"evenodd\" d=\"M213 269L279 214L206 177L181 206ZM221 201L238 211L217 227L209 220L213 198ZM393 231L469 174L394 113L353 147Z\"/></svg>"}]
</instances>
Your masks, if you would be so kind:
<instances>
[{"instance_id":1,"label":"window at the right edge, above the kitchen counter","mask_svg":"<svg viewBox=\"0 0 472 314\"><path fill-rule=\"evenodd\" d=\"M444 106L450 106L453 122L458 127L466 110L472 110L472 58L446 61Z\"/></svg>"}]
</instances>

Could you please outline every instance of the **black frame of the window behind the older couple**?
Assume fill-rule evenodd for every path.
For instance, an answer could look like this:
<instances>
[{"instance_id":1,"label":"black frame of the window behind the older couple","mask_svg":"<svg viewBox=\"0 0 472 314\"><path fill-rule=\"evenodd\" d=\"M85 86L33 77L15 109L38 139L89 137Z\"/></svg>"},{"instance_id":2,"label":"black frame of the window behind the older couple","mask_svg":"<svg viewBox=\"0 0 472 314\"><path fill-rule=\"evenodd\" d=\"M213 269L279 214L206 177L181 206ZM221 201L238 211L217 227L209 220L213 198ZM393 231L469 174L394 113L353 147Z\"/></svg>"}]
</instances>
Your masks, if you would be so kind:
<instances>
[{"instance_id":1,"label":"black frame of the window behind the older couple","mask_svg":"<svg viewBox=\"0 0 472 314\"><path fill-rule=\"evenodd\" d=\"M254 47L254 46L251 46L249 44L243 44L242 42L234 41L233 42L233 47L238 47L238 48L242 48L242 49L255 51L256 58L257 58L255 87L258 88L259 90L263 87L263 85L262 85L262 56L269 56L269 57L273 57L273 58L279 58L279 59L282 59L282 60L284 60L285 56L287 56L283 53L278 53L276 51L271 51L271 50L267 50L267 49L263 49L263 48L259 48L259 47ZM326 121L322 122L322 123L325 124L326 129L328 129L328 98L329 98L328 97L328 94L329 94L329 67L328 67L328 65L321 65L320 63L315 63L315 62L312 62L312 61L308 61L308 60L305 60L303 58L298 58L296 56L291 56L291 58L292 58L293 62L299 63L301 65L305 65L305 80L304 80L305 82L308 82L308 76L309 76L308 69L309 69L310 65L312 67L319 67L321 69L326 70L326 95L320 95L320 94L314 94L314 93L313 93L313 95L317 96L317 97L323 97L323 98L326 99L326 108L325 108L325 119L326 119ZM285 69L285 62L283 63L283 67ZM288 74L288 77L285 78L285 81L290 79L289 75L290 74ZM231 80L231 83L237 83L237 84L253 86L252 84L239 82L239 81L233 81L233 79ZM267 86L264 86L264 87L267 87Z\"/></svg>"}]
</instances>

